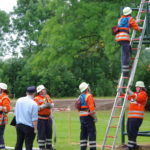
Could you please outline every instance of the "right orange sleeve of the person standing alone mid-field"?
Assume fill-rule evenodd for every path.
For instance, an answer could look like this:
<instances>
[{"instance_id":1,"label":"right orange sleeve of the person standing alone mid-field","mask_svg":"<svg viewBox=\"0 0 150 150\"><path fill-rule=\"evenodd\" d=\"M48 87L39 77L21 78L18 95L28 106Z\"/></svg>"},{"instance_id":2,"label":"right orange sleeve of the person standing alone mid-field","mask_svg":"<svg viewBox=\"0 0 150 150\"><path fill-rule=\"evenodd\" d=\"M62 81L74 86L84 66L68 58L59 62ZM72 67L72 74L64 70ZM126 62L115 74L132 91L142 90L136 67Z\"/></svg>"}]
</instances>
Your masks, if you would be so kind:
<instances>
[{"instance_id":1,"label":"right orange sleeve of the person standing alone mid-field","mask_svg":"<svg viewBox=\"0 0 150 150\"><path fill-rule=\"evenodd\" d=\"M89 107L90 113L95 114L95 103L92 94L87 97L87 105Z\"/></svg>"}]
</instances>

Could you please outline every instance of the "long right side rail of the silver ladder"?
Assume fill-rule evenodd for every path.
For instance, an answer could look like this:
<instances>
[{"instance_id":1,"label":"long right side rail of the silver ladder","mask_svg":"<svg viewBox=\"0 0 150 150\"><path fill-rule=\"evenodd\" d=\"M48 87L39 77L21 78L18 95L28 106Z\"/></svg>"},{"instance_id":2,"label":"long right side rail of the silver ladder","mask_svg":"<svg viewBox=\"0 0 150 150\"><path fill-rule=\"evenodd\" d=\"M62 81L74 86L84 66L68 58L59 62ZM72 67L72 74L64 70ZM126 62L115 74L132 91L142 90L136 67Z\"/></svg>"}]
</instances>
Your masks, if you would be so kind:
<instances>
[{"instance_id":1,"label":"long right side rail of the silver ladder","mask_svg":"<svg viewBox=\"0 0 150 150\"><path fill-rule=\"evenodd\" d=\"M127 90L128 90L129 87L132 85L132 82L133 82L133 79L134 79L134 75L135 75L135 71L136 71L136 68L137 68L137 63L138 63L138 59L139 59L140 51L141 51L141 47L142 47L142 41L143 41L145 29L146 29L146 17L145 17L144 25L143 25L143 26L144 26L144 28L143 28L143 30L142 30L142 36L141 36L141 39L140 39L139 44L138 44L139 50L137 51L137 54L136 54L136 58L135 58L135 61L134 61L134 64L133 64L133 69L132 69L132 71L131 71L131 76L130 76L130 79L129 79L129 82L128 82ZM122 111L121 111L120 118L119 118L119 121L118 121L118 128L117 128L117 130L116 130L116 137L118 136L120 124L121 124L121 121L122 121L122 119L123 119L123 115L124 115L124 113L125 113L125 106L126 106L126 103L127 103L127 91L126 91L126 94L125 94ZM115 148L116 141L117 141L117 138L114 140L112 150L114 150L114 148Z\"/></svg>"}]
</instances>

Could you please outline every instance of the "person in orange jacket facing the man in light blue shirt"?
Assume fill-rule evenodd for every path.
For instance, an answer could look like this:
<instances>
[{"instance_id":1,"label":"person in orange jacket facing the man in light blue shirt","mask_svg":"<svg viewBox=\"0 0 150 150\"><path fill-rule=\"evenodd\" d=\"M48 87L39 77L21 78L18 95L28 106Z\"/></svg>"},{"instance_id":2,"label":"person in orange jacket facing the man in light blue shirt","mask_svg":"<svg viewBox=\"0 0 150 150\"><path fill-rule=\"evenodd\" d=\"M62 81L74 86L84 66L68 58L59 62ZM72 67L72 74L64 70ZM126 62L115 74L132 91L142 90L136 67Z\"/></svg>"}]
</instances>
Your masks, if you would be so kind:
<instances>
[{"instance_id":1,"label":"person in orange jacket facing the man in light blue shirt","mask_svg":"<svg viewBox=\"0 0 150 150\"><path fill-rule=\"evenodd\" d=\"M51 108L54 103L46 92L44 85L37 87L38 95L35 101L39 106L38 112L38 144L41 150L52 150L52 118Z\"/></svg>"}]
</instances>

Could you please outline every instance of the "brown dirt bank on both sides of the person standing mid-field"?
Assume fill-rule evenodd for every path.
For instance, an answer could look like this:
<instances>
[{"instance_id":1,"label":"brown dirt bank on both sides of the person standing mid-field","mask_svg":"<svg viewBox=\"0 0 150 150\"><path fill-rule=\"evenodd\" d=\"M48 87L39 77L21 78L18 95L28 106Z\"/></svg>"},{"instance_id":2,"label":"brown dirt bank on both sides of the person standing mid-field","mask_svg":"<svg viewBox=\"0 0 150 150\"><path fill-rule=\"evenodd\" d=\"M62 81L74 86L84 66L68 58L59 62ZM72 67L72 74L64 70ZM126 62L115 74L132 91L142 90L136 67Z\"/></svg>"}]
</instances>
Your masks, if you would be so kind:
<instances>
[{"instance_id":1,"label":"brown dirt bank on both sides of the person standing mid-field","mask_svg":"<svg viewBox=\"0 0 150 150\"><path fill-rule=\"evenodd\" d=\"M55 100L55 108L70 108L75 110L75 99L74 100ZM111 110L114 100L108 99L96 99L96 110Z\"/></svg>"}]
</instances>

